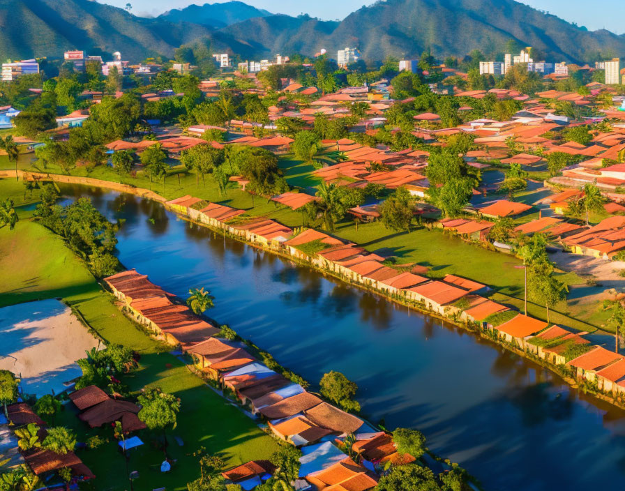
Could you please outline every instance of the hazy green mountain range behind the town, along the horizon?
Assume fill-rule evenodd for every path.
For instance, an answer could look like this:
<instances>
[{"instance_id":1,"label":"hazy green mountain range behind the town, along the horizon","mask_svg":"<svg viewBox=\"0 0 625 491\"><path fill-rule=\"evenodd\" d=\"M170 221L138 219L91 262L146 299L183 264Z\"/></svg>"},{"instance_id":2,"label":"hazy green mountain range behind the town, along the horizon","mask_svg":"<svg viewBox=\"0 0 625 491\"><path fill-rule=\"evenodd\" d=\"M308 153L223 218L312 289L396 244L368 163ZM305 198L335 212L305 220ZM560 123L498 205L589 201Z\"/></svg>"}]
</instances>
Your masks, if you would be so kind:
<instances>
[{"instance_id":1,"label":"hazy green mountain range behind the town, along the horizon","mask_svg":"<svg viewBox=\"0 0 625 491\"><path fill-rule=\"evenodd\" d=\"M588 8L592 8L589 6ZM588 31L514 0L386 0L340 22L271 14L240 1L170 10L156 18L91 0L0 0L0 59L122 52L125 59L172 56L176 47L209 40L243 59L276 53L312 55L359 47L368 60L503 52L515 40L551 61L625 56L625 35Z\"/></svg>"}]
</instances>

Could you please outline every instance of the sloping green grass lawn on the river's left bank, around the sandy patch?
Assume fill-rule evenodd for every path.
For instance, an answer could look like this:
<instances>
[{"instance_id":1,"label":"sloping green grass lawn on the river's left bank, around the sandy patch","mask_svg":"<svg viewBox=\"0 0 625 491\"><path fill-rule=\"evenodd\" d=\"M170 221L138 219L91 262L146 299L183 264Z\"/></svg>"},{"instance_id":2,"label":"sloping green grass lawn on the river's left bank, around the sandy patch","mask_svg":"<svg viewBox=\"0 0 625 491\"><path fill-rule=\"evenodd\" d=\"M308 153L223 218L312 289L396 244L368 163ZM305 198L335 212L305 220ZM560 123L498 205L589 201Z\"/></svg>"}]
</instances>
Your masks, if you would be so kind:
<instances>
[{"instance_id":1,"label":"sloping green grass lawn on the river's left bank, around the sandy patch","mask_svg":"<svg viewBox=\"0 0 625 491\"><path fill-rule=\"evenodd\" d=\"M2 182L2 181L0 181ZM6 190L6 183L0 190ZM163 461L156 447L156 435L144 431L146 443L133 452L130 470L140 472L135 489L186 489L186 483L199 476L197 458L191 455L200 446L211 454L222 455L228 467L248 460L268 458L277 444L259 430L239 409L206 386L186 365L172 354L160 352L160 343L152 340L124 317L86 266L73 255L58 236L28 220L17 223L13 231L0 229L0 306L36 299L62 298L86 319L86 322L108 343L135 349L142 356L140 368L124 377L132 391L157 386L181 399L181 413L175 430L170 431L170 457L177 459L170 474L160 474L151 466ZM110 442L97 451L80 451L79 456L93 470L97 490L123 490L126 469L116 451L111 428L90 430L75 417L67 405L57 423L67 424L84 441L92 435L103 435ZM179 446L173 436L180 437Z\"/></svg>"}]
</instances>

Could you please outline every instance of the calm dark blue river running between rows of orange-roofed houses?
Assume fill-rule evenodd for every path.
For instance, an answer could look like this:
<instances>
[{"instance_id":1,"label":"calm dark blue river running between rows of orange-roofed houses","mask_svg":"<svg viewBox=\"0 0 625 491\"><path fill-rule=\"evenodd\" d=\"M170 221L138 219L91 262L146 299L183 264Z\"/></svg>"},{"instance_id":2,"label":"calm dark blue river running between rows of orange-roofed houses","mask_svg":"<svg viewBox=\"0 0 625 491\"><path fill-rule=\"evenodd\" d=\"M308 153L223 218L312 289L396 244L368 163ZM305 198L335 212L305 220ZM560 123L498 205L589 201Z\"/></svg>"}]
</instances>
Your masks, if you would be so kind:
<instances>
[{"instance_id":1,"label":"calm dark blue river running between rows of orange-roofed houses","mask_svg":"<svg viewBox=\"0 0 625 491\"><path fill-rule=\"evenodd\" d=\"M458 328L190 225L160 204L87 188L123 219L119 259L185 297L315 384L339 370L373 423L418 428L489 491L625 488L625 411ZM485 267L488 267L485 265Z\"/></svg>"}]
</instances>

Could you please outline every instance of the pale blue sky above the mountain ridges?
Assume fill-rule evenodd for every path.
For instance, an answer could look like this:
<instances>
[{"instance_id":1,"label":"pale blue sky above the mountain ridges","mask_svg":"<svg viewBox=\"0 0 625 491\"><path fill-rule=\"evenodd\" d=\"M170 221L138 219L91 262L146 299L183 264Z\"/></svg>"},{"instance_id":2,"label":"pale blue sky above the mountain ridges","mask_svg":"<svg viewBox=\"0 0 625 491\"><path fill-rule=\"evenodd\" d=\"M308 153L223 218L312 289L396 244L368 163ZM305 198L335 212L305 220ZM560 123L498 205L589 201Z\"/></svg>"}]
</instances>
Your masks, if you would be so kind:
<instances>
[{"instance_id":1,"label":"pale blue sky above the mountain ridges","mask_svg":"<svg viewBox=\"0 0 625 491\"><path fill-rule=\"evenodd\" d=\"M181 8L189 3L215 3L216 0L99 0L116 6L126 6L130 1L136 15L158 15L170 8ZM222 0L217 0L222 1ZM372 3L370 0L243 0L250 5L273 13L299 15L304 10L313 17L326 20L342 19L353 10ZM495 0L496 2L497 0ZM625 33L625 16L622 0L523 0L535 8L547 10L569 22L577 22L590 30L609 29L617 34Z\"/></svg>"}]
</instances>

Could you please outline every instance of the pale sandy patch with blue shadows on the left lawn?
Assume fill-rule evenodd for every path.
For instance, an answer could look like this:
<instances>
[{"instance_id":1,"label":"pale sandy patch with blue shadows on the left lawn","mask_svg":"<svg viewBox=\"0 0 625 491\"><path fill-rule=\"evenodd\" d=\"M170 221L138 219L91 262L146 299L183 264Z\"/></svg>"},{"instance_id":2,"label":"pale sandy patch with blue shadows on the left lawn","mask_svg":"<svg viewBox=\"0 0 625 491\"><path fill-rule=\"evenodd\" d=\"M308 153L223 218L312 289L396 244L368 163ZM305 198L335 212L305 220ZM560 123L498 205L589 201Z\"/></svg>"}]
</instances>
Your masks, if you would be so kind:
<instances>
[{"instance_id":1,"label":"pale sandy patch with blue shadows on the left lawn","mask_svg":"<svg viewBox=\"0 0 625 491\"><path fill-rule=\"evenodd\" d=\"M22 377L25 393L64 391L82 372L76 360L102 347L56 300L10 305L0 309L0 369Z\"/></svg>"}]
</instances>

